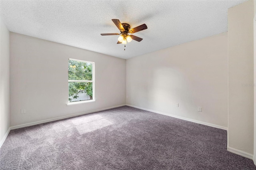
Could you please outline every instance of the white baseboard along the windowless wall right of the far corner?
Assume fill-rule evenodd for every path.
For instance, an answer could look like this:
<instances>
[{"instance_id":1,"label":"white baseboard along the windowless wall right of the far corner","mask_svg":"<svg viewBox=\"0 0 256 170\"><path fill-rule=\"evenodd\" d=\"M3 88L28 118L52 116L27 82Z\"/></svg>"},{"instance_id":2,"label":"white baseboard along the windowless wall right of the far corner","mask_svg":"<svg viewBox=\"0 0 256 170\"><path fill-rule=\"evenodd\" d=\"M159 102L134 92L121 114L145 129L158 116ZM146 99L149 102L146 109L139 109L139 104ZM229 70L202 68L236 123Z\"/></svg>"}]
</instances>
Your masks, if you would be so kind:
<instances>
[{"instance_id":1,"label":"white baseboard along the windowless wall right of the far corner","mask_svg":"<svg viewBox=\"0 0 256 170\"><path fill-rule=\"evenodd\" d=\"M134 105L127 105L127 104L126 104L126 106L130 106L130 107L134 107L134 108L137 108L137 109L142 109L142 110L150 111L150 112L154 112L154 113L159 113L159 114L161 114L161 115L166 115L166 116L170 116L170 117L175 117L175 118L182 119L182 120L185 120L185 121L190 121L190 122L194 122L194 123L199 123L199 124L206 125L206 126L209 126L209 127L215 127L215 128L220 128L220 129L223 129L223 130L228 130L227 127L222 127L222 126L214 125L214 124L211 124L211 123L196 121L196 120L193 120L193 119L188 119L188 118L185 118L185 117L180 117L180 116L176 116L176 115L171 115L171 114L168 114L168 113L163 113L163 112L159 112L159 111L154 111L154 110L150 110L150 109L145 109L145 108L138 107L138 106L134 106Z\"/></svg>"}]
</instances>

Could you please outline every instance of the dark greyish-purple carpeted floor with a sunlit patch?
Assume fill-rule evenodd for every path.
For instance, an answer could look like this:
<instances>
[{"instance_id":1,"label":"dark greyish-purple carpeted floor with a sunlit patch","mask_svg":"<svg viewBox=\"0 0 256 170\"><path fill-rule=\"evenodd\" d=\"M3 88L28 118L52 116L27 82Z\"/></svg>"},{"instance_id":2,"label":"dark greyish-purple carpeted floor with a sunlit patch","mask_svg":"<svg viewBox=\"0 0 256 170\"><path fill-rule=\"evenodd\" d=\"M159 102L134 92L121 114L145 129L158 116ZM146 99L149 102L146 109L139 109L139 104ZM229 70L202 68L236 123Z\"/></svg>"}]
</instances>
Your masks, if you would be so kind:
<instances>
[{"instance_id":1,"label":"dark greyish-purple carpeted floor with a sunlit patch","mask_svg":"<svg viewBox=\"0 0 256 170\"><path fill-rule=\"evenodd\" d=\"M0 169L256 170L218 128L124 106L11 130Z\"/></svg>"}]
</instances>

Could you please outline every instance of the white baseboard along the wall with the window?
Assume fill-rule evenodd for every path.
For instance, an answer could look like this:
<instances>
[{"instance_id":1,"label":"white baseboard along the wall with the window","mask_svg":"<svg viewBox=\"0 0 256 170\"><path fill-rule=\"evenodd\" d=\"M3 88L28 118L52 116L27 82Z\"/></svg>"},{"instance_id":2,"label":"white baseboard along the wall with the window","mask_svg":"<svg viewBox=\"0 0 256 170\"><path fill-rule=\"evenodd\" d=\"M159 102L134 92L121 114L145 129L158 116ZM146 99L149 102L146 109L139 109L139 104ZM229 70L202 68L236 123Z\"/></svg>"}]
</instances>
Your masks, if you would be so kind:
<instances>
[{"instance_id":1,"label":"white baseboard along the wall with the window","mask_svg":"<svg viewBox=\"0 0 256 170\"><path fill-rule=\"evenodd\" d=\"M98 110L94 110L94 111L88 111L88 112L84 112L84 113L78 113L78 114L75 114L75 115L68 115L68 116L57 117L57 118L53 118L53 119L46 119L46 120L44 120L44 121L37 121L37 122L32 122L32 123L26 123L26 124L22 124L22 125L12 126L12 127L10 127L10 129L13 130L13 129L17 129L17 128L30 127L30 126L38 125L38 124L41 124L41 123L47 123L47 122L52 122L52 121L58 121L58 120L61 120L61 119L66 119L66 118L70 118L70 117L85 115L85 114L88 114L88 113L94 113L94 112L98 112L98 111L104 111L104 110L113 109L113 108L121 107L121 106L125 106L125 105L118 105L118 106L107 107L107 108L98 109Z\"/></svg>"}]
</instances>

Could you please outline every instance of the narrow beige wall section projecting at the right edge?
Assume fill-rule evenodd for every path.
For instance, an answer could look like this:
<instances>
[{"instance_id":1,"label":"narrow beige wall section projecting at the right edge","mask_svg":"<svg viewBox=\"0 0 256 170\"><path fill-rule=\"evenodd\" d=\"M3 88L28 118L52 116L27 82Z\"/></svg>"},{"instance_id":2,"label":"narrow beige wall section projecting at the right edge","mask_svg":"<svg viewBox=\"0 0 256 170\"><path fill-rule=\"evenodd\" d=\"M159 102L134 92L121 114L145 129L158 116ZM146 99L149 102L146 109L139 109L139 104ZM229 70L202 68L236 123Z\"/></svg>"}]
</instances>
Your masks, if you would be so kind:
<instances>
[{"instance_id":1,"label":"narrow beige wall section projecting at the right edge","mask_svg":"<svg viewBox=\"0 0 256 170\"><path fill-rule=\"evenodd\" d=\"M254 2L228 10L228 147L253 154Z\"/></svg>"}]
</instances>

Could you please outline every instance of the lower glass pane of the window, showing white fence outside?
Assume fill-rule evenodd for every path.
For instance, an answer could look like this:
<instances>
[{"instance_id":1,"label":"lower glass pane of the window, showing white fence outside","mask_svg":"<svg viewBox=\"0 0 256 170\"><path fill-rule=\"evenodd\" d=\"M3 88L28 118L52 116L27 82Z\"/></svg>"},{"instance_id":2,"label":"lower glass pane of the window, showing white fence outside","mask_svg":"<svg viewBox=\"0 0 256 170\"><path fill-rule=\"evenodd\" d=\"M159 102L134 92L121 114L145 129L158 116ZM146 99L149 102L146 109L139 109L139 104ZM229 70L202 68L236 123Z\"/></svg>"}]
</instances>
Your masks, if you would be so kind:
<instances>
[{"instance_id":1,"label":"lower glass pane of the window, showing white fence outside","mask_svg":"<svg viewBox=\"0 0 256 170\"><path fill-rule=\"evenodd\" d=\"M92 83L68 82L68 102L92 100Z\"/></svg>"}]
</instances>

